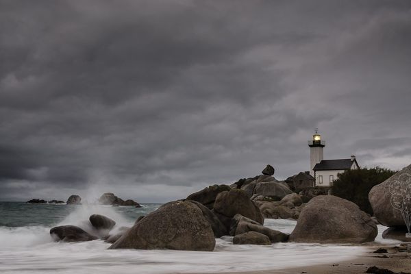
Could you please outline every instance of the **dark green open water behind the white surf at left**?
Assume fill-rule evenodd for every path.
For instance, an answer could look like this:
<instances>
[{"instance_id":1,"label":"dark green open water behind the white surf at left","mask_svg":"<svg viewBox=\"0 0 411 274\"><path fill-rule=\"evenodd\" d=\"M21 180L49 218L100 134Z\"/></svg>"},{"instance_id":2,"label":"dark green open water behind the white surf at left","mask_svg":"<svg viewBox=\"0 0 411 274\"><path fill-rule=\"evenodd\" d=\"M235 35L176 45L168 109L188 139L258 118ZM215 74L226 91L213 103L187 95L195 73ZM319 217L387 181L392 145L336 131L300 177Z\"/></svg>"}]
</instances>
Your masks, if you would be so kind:
<instances>
[{"instance_id":1,"label":"dark green open water behind the white surf at left","mask_svg":"<svg viewBox=\"0 0 411 274\"><path fill-rule=\"evenodd\" d=\"M147 215L161 205L142 203L142 208L134 206L109 207L129 221ZM51 227L66 219L81 206L55 203L0 202L0 227L25 227L41 225Z\"/></svg>"}]
</instances>

